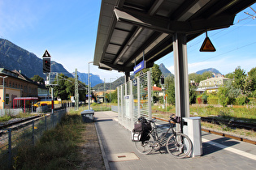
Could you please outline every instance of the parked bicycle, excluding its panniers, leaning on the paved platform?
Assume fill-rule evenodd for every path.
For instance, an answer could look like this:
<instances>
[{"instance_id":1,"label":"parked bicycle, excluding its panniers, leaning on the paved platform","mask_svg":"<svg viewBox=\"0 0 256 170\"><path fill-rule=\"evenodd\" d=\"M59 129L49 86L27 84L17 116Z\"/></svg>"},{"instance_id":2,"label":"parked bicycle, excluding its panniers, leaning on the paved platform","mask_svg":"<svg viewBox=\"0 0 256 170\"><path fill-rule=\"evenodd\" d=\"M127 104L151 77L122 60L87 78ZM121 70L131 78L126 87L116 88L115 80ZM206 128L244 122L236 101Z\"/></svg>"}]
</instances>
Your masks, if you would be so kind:
<instances>
[{"instance_id":1,"label":"parked bicycle, excluding its panniers, leaning on the paved platform","mask_svg":"<svg viewBox=\"0 0 256 170\"><path fill-rule=\"evenodd\" d=\"M165 145L168 153L176 158L184 158L189 155L192 149L192 142L187 135L176 132L173 129L174 125L180 121L179 117L173 116L174 115L171 115L170 119L168 120L170 125L169 129L161 136L158 136L158 127L155 125L156 119L151 121L147 120L150 121L152 130L150 130L146 141L135 142L137 151L139 151L141 154L150 154L151 151L159 151L159 149ZM167 138L167 135L170 134L170 130L171 136ZM165 142L166 138L167 142Z\"/></svg>"}]
</instances>

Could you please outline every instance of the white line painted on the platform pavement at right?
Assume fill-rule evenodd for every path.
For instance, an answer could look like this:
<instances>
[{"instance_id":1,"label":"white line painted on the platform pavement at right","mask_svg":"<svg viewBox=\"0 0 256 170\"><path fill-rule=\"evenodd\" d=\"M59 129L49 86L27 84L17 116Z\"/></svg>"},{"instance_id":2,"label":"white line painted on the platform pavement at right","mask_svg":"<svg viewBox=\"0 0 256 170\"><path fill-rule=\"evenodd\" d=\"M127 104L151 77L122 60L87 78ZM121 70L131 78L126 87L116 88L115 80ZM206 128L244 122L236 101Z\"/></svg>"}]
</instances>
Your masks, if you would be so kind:
<instances>
[{"instance_id":1,"label":"white line painted on the platform pavement at right","mask_svg":"<svg viewBox=\"0 0 256 170\"><path fill-rule=\"evenodd\" d=\"M241 151L241 150L238 150L238 149L235 149L235 148L232 148L232 147L228 147L228 146L219 144L219 143L217 143L217 142L212 142L212 141L207 140L207 139L205 139L205 138L202 138L202 142L207 142L207 143L209 143L210 145L213 145L213 146L215 146L215 147L220 147L220 148L222 148L223 150L231 151L232 153L245 156L246 158L249 158L249 159L254 159L254 160L256 160L256 155L247 153L247 152L245 152L245 151Z\"/></svg>"}]
</instances>

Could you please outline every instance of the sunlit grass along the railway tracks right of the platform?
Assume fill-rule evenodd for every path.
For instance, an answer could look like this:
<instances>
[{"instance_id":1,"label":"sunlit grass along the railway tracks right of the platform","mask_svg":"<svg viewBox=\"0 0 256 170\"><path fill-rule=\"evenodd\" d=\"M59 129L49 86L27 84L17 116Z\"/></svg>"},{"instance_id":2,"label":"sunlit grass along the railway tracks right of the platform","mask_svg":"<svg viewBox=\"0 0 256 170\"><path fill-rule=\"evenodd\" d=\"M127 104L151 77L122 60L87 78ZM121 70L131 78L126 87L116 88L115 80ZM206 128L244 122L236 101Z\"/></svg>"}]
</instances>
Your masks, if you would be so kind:
<instances>
[{"instance_id":1,"label":"sunlit grass along the railway tracks right of the platform","mask_svg":"<svg viewBox=\"0 0 256 170\"><path fill-rule=\"evenodd\" d=\"M220 122L220 125L215 125L214 123L207 123L202 121L202 127L223 131L223 133L234 134L256 141L256 132L254 132L254 130L232 129L229 125L221 123L223 120L247 121L250 123L256 123L256 108L219 108L199 105L190 105L189 108L190 115L192 116L216 117L216 119L218 119ZM176 113L175 106L170 106L170 108L167 107L165 109L162 107L154 106L152 110L154 117L164 119L168 119L172 113Z\"/></svg>"}]
</instances>

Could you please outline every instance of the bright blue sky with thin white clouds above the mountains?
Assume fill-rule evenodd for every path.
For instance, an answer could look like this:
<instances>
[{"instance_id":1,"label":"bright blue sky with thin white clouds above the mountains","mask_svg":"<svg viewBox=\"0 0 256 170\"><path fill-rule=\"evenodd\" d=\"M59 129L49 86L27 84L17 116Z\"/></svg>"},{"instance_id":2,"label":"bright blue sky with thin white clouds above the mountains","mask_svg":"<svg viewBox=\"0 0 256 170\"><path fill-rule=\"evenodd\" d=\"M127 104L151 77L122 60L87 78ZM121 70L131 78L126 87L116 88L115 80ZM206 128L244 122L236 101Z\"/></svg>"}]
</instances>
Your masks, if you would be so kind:
<instances>
[{"instance_id":1,"label":"bright blue sky with thin white clouds above the mountains","mask_svg":"<svg viewBox=\"0 0 256 170\"><path fill-rule=\"evenodd\" d=\"M52 60L69 72L88 73L93 61L101 7L99 0L0 0L0 37L42 57L47 49ZM256 5L252 6L256 10ZM256 67L256 15L250 8L236 15L230 28L208 32L216 52L199 52L206 34L187 44L189 73L215 68L228 74L241 66L249 71ZM242 20L243 19L243 20ZM238 20L240 20L238 22ZM173 73L173 53L159 59ZM124 74L89 66L106 82Z\"/></svg>"}]
</instances>

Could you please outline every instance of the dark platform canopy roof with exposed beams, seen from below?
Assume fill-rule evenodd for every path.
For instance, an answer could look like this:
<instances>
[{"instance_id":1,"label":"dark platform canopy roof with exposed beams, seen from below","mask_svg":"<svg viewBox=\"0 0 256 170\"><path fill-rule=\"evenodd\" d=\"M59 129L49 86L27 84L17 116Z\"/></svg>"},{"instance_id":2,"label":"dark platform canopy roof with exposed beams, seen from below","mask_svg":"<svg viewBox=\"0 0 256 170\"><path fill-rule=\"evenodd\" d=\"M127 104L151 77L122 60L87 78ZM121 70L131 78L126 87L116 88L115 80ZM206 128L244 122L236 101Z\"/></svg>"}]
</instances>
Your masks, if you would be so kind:
<instances>
[{"instance_id":1,"label":"dark platform canopy roof with exposed beams, seen from below","mask_svg":"<svg viewBox=\"0 0 256 170\"><path fill-rule=\"evenodd\" d=\"M173 51L173 38L189 42L207 30L228 28L255 0L102 0L93 65L129 72L145 58L151 67Z\"/></svg>"}]
</instances>

